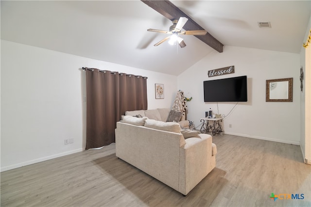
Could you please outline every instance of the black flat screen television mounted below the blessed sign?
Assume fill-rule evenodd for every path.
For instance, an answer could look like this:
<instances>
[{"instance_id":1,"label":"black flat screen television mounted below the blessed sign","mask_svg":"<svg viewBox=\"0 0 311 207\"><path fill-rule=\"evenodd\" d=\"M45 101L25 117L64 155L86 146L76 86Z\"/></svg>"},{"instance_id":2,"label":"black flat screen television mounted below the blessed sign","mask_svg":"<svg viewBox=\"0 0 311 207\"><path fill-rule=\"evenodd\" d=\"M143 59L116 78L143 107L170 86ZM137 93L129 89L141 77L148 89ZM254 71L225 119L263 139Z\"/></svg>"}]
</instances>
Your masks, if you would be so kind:
<instances>
[{"instance_id":1,"label":"black flat screen television mounted below the blessed sign","mask_svg":"<svg viewBox=\"0 0 311 207\"><path fill-rule=\"evenodd\" d=\"M246 102L247 76L228 79L206 80L204 102Z\"/></svg>"}]
</instances>

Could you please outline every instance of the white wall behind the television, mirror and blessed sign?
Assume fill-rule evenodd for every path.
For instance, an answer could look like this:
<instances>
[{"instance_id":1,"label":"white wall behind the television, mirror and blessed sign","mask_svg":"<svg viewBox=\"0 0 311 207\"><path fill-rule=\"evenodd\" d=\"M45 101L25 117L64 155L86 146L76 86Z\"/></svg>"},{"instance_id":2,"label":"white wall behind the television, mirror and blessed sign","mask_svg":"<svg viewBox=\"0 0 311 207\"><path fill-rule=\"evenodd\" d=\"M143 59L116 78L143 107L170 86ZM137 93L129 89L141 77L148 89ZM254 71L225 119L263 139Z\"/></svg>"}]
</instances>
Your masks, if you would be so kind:
<instances>
[{"instance_id":1,"label":"white wall behind the television, mirror and blessed sign","mask_svg":"<svg viewBox=\"0 0 311 207\"><path fill-rule=\"evenodd\" d=\"M235 66L235 73L208 78L207 71ZM203 81L247 76L248 101L240 102L224 120L225 133L282 143L300 142L300 60L299 54L225 46L223 53L213 52L178 76L178 89L190 93L188 119L199 126L209 108L205 103ZM294 78L293 102L266 102L266 80ZM227 114L232 102L219 102L219 113ZM232 128L229 128L232 124ZM200 128L200 127L197 127Z\"/></svg>"}]
</instances>

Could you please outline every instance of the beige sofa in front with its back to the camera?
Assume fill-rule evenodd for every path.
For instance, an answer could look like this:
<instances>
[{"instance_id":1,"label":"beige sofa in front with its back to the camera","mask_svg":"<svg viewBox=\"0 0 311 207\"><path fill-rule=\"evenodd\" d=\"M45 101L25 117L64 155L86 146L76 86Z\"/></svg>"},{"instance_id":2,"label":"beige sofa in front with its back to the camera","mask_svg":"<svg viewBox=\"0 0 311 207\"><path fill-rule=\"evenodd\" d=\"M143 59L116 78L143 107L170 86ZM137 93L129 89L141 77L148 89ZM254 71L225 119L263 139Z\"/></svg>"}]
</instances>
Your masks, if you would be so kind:
<instances>
[{"instance_id":1,"label":"beige sofa in front with its back to the camera","mask_svg":"<svg viewBox=\"0 0 311 207\"><path fill-rule=\"evenodd\" d=\"M178 123L131 117L117 122L118 158L184 195L215 167L217 148L210 135L185 139Z\"/></svg>"}]
</instances>

